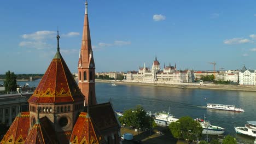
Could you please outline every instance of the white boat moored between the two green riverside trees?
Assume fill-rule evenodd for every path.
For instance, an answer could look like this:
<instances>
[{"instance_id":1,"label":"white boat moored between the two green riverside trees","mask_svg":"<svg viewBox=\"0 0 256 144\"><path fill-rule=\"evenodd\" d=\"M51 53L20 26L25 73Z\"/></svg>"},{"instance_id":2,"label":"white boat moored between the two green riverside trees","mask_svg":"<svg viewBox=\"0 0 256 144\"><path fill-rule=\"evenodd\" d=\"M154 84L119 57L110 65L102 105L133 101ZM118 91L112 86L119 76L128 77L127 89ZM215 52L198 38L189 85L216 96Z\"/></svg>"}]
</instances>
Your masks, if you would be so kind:
<instances>
[{"instance_id":1,"label":"white boat moored between the two green riverside trees","mask_svg":"<svg viewBox=\"0 0 256 144\"><path fill-rule=\"evenodd\" d=\"M176 122L178 120L178 118L174 118L174 116L170 114L170 107L168 112L161 111L155 113L155 123L161 127L166 127L170 123Z\"/></svg>"}]
</instances>

